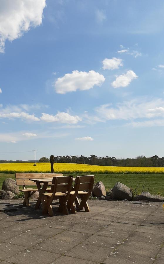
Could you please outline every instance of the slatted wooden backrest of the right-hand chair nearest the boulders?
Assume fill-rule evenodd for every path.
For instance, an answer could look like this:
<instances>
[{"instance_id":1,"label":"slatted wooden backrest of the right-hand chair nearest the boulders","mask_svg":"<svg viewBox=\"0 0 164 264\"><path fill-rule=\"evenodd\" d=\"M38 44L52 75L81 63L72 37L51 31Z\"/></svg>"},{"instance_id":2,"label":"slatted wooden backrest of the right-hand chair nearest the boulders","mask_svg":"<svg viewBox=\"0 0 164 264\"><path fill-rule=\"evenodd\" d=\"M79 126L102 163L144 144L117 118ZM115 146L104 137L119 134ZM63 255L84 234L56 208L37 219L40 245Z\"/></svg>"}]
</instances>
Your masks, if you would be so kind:
<instances>
[{"instance_id":1,"label":"slatted wooden backrest of the right-hand chair nearest the boulders","mask_svg":"<svg viewBox=\"0 0 164 264\"><path fill-rule=\"evenodd\" d=\"M88 193L92 192L92 188L94 185L94 175L87 176L77 176L75 179L74 191L84 191L87 190Z\"/></svg>"}]
</instances>

